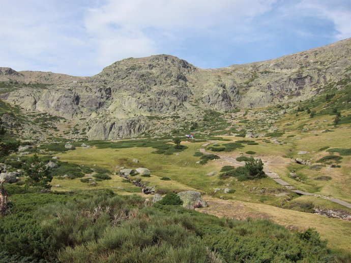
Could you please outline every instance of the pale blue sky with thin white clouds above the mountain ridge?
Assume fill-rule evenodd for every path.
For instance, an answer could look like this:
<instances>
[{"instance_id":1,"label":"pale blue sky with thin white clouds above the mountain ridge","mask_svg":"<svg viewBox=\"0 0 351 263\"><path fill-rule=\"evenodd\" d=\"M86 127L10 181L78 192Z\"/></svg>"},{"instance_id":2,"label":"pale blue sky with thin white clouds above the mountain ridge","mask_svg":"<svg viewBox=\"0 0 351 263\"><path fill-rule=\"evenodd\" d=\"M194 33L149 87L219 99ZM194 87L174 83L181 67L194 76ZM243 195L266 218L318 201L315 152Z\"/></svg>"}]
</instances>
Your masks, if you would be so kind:
<instances>
[{"instance_id":1,"label":"pale blue sky with thin white clouds above the mountain ridge","mask_svg":"<svg viewBox=\"0 0 351 263\"><path fill-rule=\"evenodd\" d=\"M351 0L0 0L0 67L92 76L171 54L221 68L351 37Z\"/></svg>"}]
</instances>

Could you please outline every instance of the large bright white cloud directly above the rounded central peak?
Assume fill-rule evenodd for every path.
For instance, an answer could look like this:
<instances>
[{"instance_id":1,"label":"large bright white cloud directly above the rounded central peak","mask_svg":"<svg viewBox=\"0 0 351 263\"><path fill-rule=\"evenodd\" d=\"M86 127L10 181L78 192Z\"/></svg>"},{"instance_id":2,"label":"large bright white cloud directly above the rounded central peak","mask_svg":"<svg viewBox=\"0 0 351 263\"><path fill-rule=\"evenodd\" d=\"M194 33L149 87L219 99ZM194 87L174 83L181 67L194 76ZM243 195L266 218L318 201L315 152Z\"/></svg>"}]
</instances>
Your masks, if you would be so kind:
<instances>
[{"instance_id":1,"label":"large bright white cloud directly above the rounded central peak","mask_svg":"<svg viewBox=\"0 0 351 263\"><path fill-rule=\"evenodd\" d=\"M276 0L118 1L87 11L85 27L98 48L98 61L109 64L127 56L162 53L164 45L180 46L194 31L242 31L247 22L270 10ZM247 30L249 32L250 30ZM235 34L228 39L235 39ZM241 35L240 40L250 39ZM174 43L175 41L175 43ZM161 44L162 43L162 44Z\"/></svg>"}]
</instances>

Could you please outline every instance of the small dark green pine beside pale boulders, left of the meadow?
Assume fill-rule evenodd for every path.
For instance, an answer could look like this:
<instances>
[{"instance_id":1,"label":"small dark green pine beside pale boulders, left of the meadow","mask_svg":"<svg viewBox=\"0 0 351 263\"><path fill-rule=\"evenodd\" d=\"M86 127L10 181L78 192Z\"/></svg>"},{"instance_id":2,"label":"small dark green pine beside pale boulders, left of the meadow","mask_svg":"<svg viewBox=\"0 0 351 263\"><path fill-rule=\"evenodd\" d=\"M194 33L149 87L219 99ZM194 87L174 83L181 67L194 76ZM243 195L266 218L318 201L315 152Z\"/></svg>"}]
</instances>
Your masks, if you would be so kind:
<instances>
[{"instance_id":1,"label":"small dark green pine beside pale boulders, left of the meadow","mask_svg":"<svg viewBox=\"0 0 351 263\"><path fill-rule=\"evenodd\" d=\"M37 155L28 159L23 166L23 171L27 176L26 186L41 186L46 189L51 188L49 182L52 180L49 168L46 163Z\"/></svg>"}]
</instances>

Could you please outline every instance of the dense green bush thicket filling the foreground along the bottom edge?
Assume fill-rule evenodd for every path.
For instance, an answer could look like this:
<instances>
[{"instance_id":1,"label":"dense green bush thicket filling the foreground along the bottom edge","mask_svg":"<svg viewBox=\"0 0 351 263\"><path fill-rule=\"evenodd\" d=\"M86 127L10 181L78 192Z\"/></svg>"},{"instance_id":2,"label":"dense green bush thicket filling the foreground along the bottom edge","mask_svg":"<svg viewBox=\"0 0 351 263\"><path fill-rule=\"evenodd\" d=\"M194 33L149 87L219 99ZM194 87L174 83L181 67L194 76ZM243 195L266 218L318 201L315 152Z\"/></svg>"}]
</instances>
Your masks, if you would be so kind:
<instances>
[{"instance_id":1,"label":"dense green bush thicket filling the foreground along the bottom edge","mask_svg":"<svg viewBox=\"0 0 351 263\"><path fill-rule=\"evenodd\" d=\"M19 186L17 186L18 188ZM230 220L100 190L22 193L0 218L5 262L332 262L318 233Z\"/></svg>"}]
</instances>

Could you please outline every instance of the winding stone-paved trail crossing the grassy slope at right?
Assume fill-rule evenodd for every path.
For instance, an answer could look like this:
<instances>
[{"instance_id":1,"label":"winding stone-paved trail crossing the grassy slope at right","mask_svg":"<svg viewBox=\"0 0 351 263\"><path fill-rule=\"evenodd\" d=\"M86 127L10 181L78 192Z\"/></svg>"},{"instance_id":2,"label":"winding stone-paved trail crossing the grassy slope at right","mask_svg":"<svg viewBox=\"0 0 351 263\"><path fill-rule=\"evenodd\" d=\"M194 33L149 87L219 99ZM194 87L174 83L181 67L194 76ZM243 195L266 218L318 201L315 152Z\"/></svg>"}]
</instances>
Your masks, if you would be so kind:
<instances>
[{"instance_id":1,"label":"winding stone-paved trail crossing the grassy slope at right","mask_svg":"<svg viewBox=\"0 0 351 263\"><path fill-rule=\"evenodd\" d=\"M206 144L203 144L201 145L201 148L200 148L200 152L203 153L203 154L211 154L210 152L207 152L206 149L204 149L203 147L206 147L208 145L210 145L211 143L206 143ZM224 159L230 163L232 163L233 165L236 165L236 166L244 166L245 165L245 162L241 162L241 161L237 161L235 158L232 158L232 157L228 157L228 156L223 156L223 155L218 155L221 159ZM264 160L262 160L264 161ZM266 167L265 167L266 166ZM295 186L293 185L290 185L288 182L285 182L283 181L282 179L280 179L279 175L271 170L269 170L267 168L267 165L266 165L266 162L264 161L264 172L267 174L268 177L270 177L272 180L274 180L276 183L284 186L285 188L287 188L288 190L290 191L293 191L293 192L296 192L297 194L300 194L300 195L313 195L313 196L317 196L317 197L320 197L320 198L323 198L323 199L326 199L326 200L329 200L329 201L332 201L336 204L339 204L339 205L342 205L344 207L347 207L349 209L351 209L351 204L350 203L347 203L343 200L340 200L340 199L337 199L337 198L332 198L332 197L329 197L329 196L325 196L325 195L320 195L320 194L314 194L314 193L309 193L309 192L305 192L305 191L301 191L301 190L297 190Z\"/></svg>"}]
</instances>

